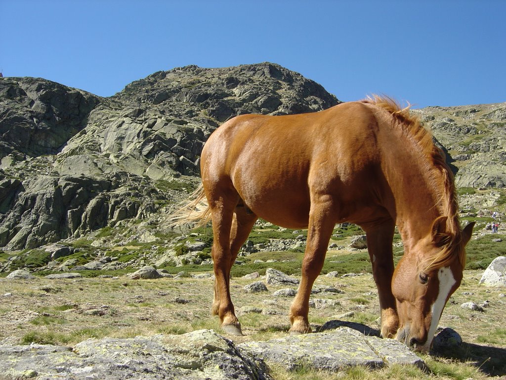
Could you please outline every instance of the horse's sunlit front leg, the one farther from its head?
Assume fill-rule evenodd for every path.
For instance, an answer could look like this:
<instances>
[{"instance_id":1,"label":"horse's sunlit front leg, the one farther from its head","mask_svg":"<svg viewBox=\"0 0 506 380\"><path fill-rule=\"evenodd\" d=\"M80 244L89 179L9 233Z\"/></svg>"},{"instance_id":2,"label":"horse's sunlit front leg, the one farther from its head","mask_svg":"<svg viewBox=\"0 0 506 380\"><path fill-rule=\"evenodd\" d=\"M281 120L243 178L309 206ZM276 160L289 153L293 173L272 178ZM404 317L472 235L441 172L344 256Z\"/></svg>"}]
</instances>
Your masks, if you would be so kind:
<instances>
[{"instance_id":1,"label":"horse's sunlit front leg, the one farther from its head","mask_svg":"<svg viewBox=\"0 0 506 380\"><path fill-rule=\"evenodd\" d=\"M308 240L302 262L302 280L289 313L291 335L311 332L308 320L309 296L323 267L328 241L335 225L335 221L330 217L330 210L328 204L311 205Z\"/></svg>"}]
</instances>

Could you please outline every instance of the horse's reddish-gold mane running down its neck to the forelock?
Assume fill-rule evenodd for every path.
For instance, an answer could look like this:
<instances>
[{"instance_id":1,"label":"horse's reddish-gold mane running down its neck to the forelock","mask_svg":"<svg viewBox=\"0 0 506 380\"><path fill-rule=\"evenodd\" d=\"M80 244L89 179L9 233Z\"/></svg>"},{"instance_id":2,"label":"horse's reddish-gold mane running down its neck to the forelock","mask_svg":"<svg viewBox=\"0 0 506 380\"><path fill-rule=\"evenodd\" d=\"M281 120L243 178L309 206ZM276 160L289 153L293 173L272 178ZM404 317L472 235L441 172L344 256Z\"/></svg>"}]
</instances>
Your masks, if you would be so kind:
<instances>
[{"instance_id":1,"label":"horse's reddish-gold mane running down its neck to the forelock","mask_svg":"<svg viewBox=\"0 0 506 380\"><path fill-rule=\"evenodd\" d=\"M441 215L447 216L446 233L441 237L443 246L433 256L427 257L421 264L421 270L429 272L448 266L458 258L462 269L466 265L466 253L461 242L460 221L458 218L458 202L453 173L445 162L444 153L433 141L432 134L425 129L417 116L410 112L410 105L401 108L393 99L387 96L373 95L363 101L375 105L388 113L402 128L404 135L424 153L426 172L439 202L435 207L440 209Z\"/></svg>"}]
</instances>

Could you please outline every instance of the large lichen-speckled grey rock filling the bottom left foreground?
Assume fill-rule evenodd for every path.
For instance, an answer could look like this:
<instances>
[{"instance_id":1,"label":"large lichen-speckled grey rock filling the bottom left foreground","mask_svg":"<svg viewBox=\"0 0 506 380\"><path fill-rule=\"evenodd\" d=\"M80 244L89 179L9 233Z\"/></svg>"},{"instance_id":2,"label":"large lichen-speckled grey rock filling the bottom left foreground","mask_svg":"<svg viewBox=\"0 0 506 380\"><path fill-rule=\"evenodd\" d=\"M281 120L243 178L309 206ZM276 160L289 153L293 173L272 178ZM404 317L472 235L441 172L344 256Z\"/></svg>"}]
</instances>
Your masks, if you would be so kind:
<instances>
[{"instance_id":1,"label":"large lichen-speckled grey rock filling the bottom left foreground","mask_svg":"<svg viewBox=\"0 0 506 380\"><path fill-rule=\"evenodd\" d=\"M70 347L0 346L8 378L270 379L263 362L212 330L183 335L88 339Z\"/></svg>"}]
</instances>

